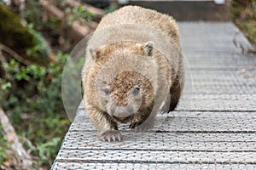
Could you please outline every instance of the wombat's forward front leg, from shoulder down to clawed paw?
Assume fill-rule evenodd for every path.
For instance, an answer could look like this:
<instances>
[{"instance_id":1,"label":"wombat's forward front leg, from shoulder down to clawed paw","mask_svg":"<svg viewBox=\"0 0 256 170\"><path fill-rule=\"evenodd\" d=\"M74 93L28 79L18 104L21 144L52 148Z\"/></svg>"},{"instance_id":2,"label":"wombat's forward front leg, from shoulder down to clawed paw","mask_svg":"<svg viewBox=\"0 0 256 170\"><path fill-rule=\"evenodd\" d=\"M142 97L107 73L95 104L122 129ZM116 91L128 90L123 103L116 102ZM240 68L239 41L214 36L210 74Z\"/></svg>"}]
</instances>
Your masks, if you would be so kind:
<instances>
[{"instance_id":1,"label":"wombat's forward front leg, from shoulder down to clawed paw","mask_svg":"<svg viewBox=\"0 0 256 170\"><path fill-rule=\"evenodd\" d=\"M98 139L104 142L120 142L123 140L123 136L118 130L117 123L113 121L113 118L109 116L108 113L97 109L90 109L88 113L96 125Z\"/></svg>"}]
</instances>

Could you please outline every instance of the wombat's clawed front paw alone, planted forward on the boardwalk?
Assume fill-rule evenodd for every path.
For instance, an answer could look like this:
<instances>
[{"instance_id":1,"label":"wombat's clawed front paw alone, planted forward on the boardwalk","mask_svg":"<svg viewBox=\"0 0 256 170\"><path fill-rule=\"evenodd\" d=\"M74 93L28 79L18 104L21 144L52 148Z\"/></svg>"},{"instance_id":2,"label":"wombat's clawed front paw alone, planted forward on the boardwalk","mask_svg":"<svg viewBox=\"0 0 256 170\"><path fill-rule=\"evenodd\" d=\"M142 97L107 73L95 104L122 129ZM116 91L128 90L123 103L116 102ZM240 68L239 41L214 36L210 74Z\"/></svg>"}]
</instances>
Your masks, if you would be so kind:
<instances>
[{"instance_id":1,"label":"wombat's clawed front paw alone, planted forward on the boardwalk","mask_svg":"<svg viewBox=\"0 0 256 170\"><path fill-rule=\"evenodd\" d=\"M118 130L107 130L100 133L98 138L104 142L121 142L123 140L123 135Z\"/></svg>"}]
</instances>

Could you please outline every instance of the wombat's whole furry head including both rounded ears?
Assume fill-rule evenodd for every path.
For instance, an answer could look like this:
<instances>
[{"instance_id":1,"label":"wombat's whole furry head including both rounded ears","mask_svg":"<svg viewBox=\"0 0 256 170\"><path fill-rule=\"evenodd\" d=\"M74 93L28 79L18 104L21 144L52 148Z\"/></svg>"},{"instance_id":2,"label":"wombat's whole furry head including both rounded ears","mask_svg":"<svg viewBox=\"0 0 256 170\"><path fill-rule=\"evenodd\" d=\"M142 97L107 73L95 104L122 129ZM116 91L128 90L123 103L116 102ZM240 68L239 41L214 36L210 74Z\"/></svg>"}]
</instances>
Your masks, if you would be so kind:
<instances>
[{"instance_id":1,"label":"wombat's whole furry head including both rounded ears","mask_svg":"<svg viewBox=\"0 0 256 170\"><path fill-rule=\"evenodd\" d=\"M151 54L151 42L141 46L134 42L112 44L95 54L96 97L116 121L129 122L154 104L157 66L148 60Z\"/></svg>"}]
</instances>

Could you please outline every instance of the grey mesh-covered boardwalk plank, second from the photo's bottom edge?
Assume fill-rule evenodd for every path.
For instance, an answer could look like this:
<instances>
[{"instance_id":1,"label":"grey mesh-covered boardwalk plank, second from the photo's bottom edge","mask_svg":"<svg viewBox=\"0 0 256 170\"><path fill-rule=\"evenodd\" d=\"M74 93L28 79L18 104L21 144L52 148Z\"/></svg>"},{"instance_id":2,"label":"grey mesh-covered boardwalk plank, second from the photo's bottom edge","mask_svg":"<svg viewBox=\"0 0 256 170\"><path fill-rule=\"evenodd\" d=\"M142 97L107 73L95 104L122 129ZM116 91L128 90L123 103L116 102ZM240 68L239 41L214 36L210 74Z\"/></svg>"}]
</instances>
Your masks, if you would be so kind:
<instances>
[{"instance_id":1,"label":"grey mesh-covered boardwalk plank, second from the photo's bottom edge","mask_svg":"<svg viewBox=\"0 0 256 170\"><path fill-rule=\"evenodd\" d=\"M241 163L254 164L256 152L167 151L167 150L60 150L56 160L142 163Z\"/></svg>"}]
</instances>

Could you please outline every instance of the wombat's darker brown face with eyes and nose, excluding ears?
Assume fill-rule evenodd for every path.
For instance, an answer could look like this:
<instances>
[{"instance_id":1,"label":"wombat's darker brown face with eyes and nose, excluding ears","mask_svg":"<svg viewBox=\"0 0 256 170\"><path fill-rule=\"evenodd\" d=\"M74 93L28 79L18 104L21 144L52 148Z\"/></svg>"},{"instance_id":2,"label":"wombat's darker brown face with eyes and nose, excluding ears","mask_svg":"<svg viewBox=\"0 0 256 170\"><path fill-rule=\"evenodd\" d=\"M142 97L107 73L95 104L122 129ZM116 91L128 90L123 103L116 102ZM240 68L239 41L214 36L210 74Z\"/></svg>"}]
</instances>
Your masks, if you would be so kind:
<instances>
[{"instance_id":1,"label":"wombat's darker brown face with eyes and nose, excluding ears","mask_svg":"<svg viewBox=\"0 0 256 170\"><path fill-rule=\"evenodd\" d=\"M154 102L154 89L147 77L136 71L124 71L104 88L108 114L119 122L128 122L137 111Z\"/></svg>"}]
</instances>

